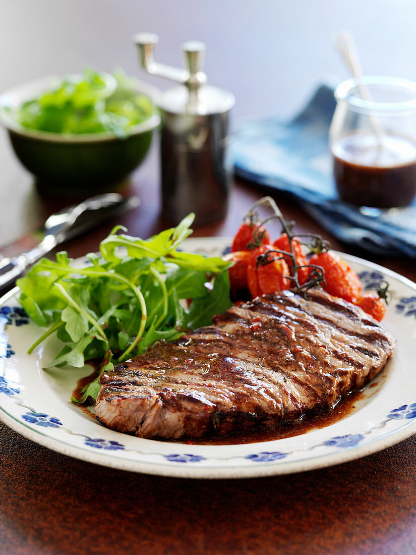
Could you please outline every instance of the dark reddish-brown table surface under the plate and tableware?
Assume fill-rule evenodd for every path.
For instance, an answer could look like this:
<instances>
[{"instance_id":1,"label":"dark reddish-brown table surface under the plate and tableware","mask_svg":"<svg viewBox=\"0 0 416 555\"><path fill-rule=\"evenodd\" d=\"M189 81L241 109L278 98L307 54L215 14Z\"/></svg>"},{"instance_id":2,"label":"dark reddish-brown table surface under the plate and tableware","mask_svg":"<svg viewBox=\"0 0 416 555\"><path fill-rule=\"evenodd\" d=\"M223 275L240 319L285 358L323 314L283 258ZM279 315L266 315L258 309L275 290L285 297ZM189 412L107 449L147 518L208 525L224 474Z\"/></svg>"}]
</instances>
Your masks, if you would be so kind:
<instances>
[{"instance_id":1,"label":"dark reddish-brown table surface under the plate and tableware","mask_svg":"<svg viewBox=\"0 0 416 555\"><path fill-rule=\"evenodd\" d=\"M3 145L4 146L4 145ZM6 148L6 147L4 147ZM39 198L31 179L7 151L14 204L31 199L41 221L55 205ZM131 189L139 208L117 219L133 235L147 237L166 225L159 218L155 153ZM6 186L6 185L5 185ZM27 220L3 200L3 225L27 231ZM2 196L3 195L3 196ZM17 195L17 198L16 198ZM222 223L195 235L232 235L241 215L261 196L236 181ZM298 231L323 233L293 202L276 200ZM115 221L65 245L70 256L97 250ZM16 233L14 233L16 235ZM7 234L6 234L7 235ZM414 261L368 257L416 280ZM0 424L0 553L415 553L416 437L361 460L289 476L250 480L182 480L95 466L49 451Z\"/></svg>"}]
</instances>

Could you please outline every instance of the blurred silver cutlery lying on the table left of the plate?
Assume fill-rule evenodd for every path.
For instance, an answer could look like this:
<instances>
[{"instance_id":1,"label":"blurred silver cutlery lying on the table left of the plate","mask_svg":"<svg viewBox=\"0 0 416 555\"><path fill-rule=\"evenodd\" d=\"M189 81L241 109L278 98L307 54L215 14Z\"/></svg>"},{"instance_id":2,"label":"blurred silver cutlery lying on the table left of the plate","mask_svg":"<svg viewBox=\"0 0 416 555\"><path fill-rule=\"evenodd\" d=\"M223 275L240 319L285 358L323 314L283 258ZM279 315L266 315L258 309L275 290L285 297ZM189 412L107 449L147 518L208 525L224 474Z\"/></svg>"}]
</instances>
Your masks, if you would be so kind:
<instances>
[{"instance_id":1,"label":"blurred silver cutlery lying on the table left of the plate","mask_svg":"<svg viewBox=\"0 0 416 555\"><path fill-rule=\"evenodd\" d=\"M107 193L52 214L45 221L43 229L0 249L0 290L11 285L55 246L139 204L137 196L126 198L118 193ZM26 250L24 245L28 243L31 247Z\"/></svg>"}]
</instances>

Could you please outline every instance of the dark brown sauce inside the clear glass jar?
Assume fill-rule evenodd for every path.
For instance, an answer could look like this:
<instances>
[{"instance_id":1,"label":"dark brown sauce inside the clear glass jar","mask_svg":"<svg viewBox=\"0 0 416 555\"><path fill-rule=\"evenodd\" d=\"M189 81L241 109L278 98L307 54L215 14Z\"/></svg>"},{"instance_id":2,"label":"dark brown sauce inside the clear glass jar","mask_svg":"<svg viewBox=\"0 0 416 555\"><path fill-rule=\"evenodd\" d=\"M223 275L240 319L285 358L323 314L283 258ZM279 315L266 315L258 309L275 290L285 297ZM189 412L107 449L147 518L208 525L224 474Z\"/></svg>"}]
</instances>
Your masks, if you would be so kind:
<instances>
[{"instance_id":1,"label":"dark brown sauce inside the clear glass jar","mask_svg":"<svg viewBox=\"0 0 416 555\"><path fill-rule=\"evenodd\" d=\"M403 137L351 134L332 145L341 199L356 206L393 208L416 195L416 145Z\"/></svg>"}]
</instances>

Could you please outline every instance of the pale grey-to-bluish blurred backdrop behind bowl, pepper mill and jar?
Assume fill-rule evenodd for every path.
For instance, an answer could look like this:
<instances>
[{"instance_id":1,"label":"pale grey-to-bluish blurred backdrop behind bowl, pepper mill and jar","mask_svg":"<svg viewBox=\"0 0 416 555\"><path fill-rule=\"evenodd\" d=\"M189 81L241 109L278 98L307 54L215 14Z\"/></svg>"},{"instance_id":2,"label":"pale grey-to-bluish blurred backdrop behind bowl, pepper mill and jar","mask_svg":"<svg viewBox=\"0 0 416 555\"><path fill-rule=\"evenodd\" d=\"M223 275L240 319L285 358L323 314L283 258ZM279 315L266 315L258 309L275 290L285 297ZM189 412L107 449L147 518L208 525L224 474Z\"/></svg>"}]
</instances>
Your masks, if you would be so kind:
<instances>
[{"instance_id":1,"label":"pale grey-to-bluish blurred backdrop behind bowl, pepper mill and jar","mask_svg":"<svg viewBox=\"0 0 416 555\"><path fill-rule=\"evenodd\" d=\"M346 78L330 40L341 29L354 34L366 73L416 79L415 0L0 0L0 6L0 92L85 66L121 65L138 74L130 43L137 31L158 33L156 57L175 65L181 42L206 42L209 82L236 95L235 122L290 115L322 80ZM38 223L32 179L3 133L0 165L6 168L0 206L30 229ZM0 243L17 229L3 229L0 218Z\"/></svg>"}]
</instances>

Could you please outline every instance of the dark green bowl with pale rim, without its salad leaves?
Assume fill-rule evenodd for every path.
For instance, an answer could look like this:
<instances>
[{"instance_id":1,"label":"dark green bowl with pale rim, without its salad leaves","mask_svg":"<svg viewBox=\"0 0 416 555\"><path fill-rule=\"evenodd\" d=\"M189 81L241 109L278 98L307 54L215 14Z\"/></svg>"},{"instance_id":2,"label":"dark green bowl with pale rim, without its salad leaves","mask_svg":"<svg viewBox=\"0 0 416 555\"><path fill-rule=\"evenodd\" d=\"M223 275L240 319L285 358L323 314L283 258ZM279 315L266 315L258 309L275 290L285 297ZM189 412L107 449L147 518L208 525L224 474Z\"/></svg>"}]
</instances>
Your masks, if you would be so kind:
<instances>
[{"instance_id":1,"label":"dark green bowl with pale rim, without its salad leaves","mask_svg":"<svg viewBox=\"0 0 416 555\"><path fill-rule=\"evenodd\" d=\"M37 178L42 190L55 196L79 196L114 189L135 170L149 150L160 124L154 114L131 128L126 138L113 133L65 135L24 128L4 107L17 107L48 89L57 78L25 83L0 96L0 122L6 127L14 152ZM154 98L157 89L135 80L135 92Z\"/></svg>"}]
</instances>

